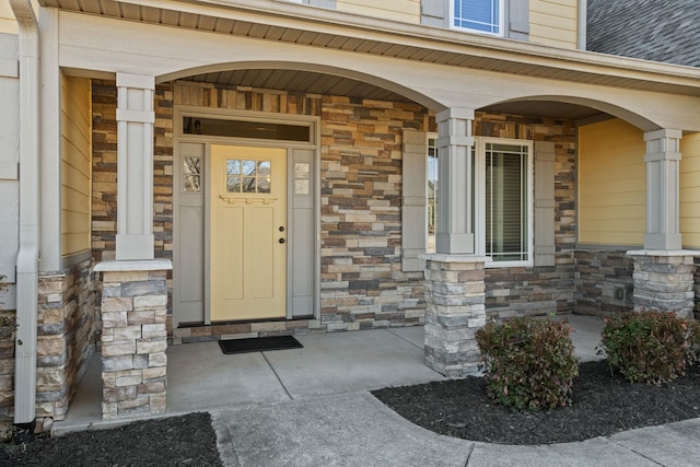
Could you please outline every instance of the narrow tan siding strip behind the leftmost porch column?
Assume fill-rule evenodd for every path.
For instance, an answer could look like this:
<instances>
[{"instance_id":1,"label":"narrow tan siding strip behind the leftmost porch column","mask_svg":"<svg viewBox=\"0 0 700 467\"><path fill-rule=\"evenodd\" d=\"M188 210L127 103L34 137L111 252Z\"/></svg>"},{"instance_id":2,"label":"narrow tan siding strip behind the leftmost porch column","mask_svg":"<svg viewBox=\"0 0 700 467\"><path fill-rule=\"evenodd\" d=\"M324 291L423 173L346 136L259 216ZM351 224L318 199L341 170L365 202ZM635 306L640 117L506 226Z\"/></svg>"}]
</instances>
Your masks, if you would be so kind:
<instances>
[{"instance_id":1,"label":"narrow tan siding strip behind the leftmost porch column","mask_svg":"<svg viewBox=\"0 0 700 467\"><path fill-rule=\"evenodd\" d=\"M61 78L61 254L90 249L91 83Z\"/></svg>"}]
</instances>

